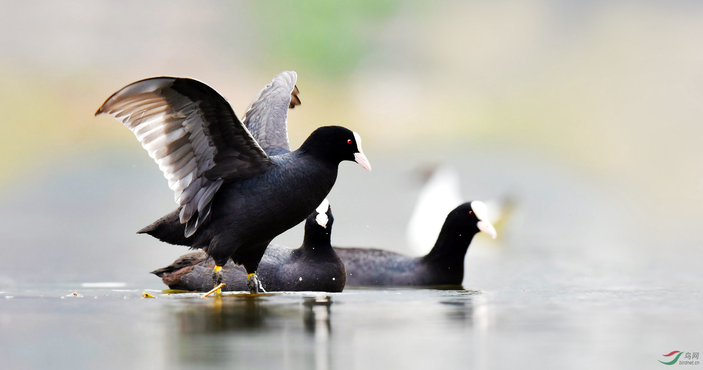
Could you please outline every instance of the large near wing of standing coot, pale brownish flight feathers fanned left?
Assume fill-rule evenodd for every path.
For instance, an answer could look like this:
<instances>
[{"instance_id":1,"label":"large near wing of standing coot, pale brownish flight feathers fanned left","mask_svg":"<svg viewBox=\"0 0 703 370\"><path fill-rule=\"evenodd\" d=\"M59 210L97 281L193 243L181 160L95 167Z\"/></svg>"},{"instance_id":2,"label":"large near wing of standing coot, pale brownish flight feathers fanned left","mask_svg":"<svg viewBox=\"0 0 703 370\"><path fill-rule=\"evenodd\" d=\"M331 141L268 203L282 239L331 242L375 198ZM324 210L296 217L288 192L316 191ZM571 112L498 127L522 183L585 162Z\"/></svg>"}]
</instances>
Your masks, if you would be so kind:
<instances>
[{"instance_id":1,"label":"large near wing of standing coot, pale brownish flight feathers fanned left","mask_svg":"<svg viewBox=\"0 0 703 370\"><path fill-rule=\"evenodd\" d=\"M134 132L164 171L181 205L181 223L188 223L186 237L205 222L225 180L250 178L272 165L227 100L194 79L136 81L105 100L101 113Z\"/></svg>"}]
</instances>

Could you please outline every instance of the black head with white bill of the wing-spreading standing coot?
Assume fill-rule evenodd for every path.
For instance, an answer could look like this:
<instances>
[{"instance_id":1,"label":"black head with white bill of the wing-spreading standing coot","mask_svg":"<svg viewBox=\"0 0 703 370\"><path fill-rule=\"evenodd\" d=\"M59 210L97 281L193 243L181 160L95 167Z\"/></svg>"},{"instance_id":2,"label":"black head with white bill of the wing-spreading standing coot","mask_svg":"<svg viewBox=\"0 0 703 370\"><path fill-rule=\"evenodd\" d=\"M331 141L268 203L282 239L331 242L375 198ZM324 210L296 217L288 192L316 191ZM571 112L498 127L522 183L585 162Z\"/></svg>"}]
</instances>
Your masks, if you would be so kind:
<instances>
[{"instance_id":1,"label":"black head with white bill of the wing-spreading standing coot","mask_svg":"<svg viewBox=\"0 0 703 370\"><path fill-rule=\"evenodd\" d=\"M304 152L311 152L337 163L355 161L371 171L371 165L361 150L361 137L342 126L323 126L316 129L300 148Z\"/></svg>"}]
</instances>

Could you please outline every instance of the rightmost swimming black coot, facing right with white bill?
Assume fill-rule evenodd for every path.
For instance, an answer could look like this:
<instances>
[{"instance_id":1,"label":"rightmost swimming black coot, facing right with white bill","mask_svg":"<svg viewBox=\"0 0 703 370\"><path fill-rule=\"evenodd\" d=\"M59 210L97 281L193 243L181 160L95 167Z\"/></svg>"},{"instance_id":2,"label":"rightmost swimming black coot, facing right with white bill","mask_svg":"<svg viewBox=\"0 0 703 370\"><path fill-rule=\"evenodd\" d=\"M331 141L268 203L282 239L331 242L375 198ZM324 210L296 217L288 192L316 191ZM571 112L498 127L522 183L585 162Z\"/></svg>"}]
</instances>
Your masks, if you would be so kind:
<instances>
[{"instance_id":1,"label":"rightmost swimming black coot, facing right with white bill","mask_svg":"<svg viewBox=\"0 0 703 370\"><path fill-rule=\"evenodd\" d=\"M347 286L461 284L464 256L471 239L479 231L496 237L486 213L486 205L481 201L453 209L446 216L434 248L423 257L380 249L335 247L347 269Z\"/></svg>"}]
</instances>

